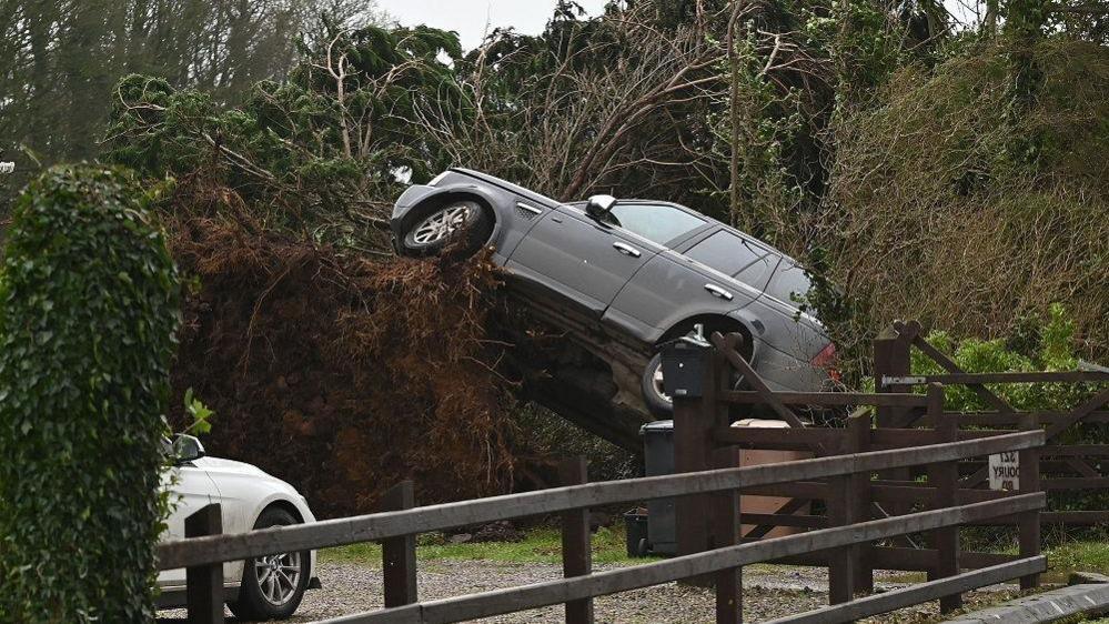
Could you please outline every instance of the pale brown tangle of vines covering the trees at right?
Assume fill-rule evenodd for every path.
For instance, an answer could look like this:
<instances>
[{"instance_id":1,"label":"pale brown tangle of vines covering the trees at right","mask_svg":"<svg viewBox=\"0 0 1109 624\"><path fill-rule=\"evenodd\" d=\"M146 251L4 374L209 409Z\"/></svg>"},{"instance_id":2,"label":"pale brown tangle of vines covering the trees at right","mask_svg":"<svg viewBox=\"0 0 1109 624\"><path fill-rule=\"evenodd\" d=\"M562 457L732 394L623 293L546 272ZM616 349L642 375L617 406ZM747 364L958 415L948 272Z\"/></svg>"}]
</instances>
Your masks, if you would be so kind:
<instances>
[{"instance_id":1,"label":"pale brown tangle of vines covering the trees at right","mask_svg":"<svg viewBox=\"0 0 1109 624\"><path fill-rule=\"evenodd\" d=\"M895 319L956 335L1021 333L1065 303L1085 358L1109 348L1109 53L1036 47L1045 72L1019 130L999 122L1007 48L979 46L932 69L895 72L878 103L834 124L837 151L808 244L860 302L837 342L863 346ZM1039 137L1035 162L1014 135Z\"/></svg>"}]
</instances>

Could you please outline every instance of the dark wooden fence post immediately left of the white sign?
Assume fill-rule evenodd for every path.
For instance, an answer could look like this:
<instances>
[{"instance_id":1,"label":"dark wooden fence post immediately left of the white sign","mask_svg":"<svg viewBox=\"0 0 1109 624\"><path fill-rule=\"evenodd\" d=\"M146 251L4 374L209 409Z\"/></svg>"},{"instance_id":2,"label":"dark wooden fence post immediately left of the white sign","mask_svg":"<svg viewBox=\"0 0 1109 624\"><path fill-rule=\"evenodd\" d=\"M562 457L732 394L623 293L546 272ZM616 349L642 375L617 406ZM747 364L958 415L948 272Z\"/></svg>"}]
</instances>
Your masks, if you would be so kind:
<instances>
[{"instance_id":1,"label":"dark wooden fence post immediately left of the white sign","mask_svg":"<svg viewBox=\"0 0 1109 624\"><path fill-rule=\"evenodd\" d=\"M959 421L955 414L944 413L944 384L928 384L928 416L936 427L936 442L958 442ZM958 505L959 469L956 462L944 462L928 466L928 485L936 489L936 509ZM928 571L928 580L934 581L959 574L959 527L945 526L931 535L936 548L936 568ZM962 607L962 594L950 594L939 598L940 613L949 613Z\"/></svg>"}]
</instances>

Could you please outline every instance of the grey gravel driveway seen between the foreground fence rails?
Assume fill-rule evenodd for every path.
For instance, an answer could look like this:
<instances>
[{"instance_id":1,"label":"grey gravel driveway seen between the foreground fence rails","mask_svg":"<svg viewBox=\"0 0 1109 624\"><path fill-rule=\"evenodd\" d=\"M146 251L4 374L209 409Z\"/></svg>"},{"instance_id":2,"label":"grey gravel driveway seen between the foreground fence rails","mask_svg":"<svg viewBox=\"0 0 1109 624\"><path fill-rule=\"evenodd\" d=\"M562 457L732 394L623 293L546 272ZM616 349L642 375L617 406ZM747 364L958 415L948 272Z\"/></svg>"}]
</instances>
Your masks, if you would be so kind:
<instances>
[{"instance_id":1,"label":"grey gravel driveway seen between the foreground fence rails","mask_svg":"<svg viewBox=\"0 0 1109 624\"><path fill-rule=\"evenodd\" d=\"M611 570L614 566L596 566ZM421 600L434 600L462 594L512 587L562 576L562 567L550 564L520 564L491 561L421 561L419 565ZM900 586L883 581L879 588ZM382 574L376 566L357 563L321 562L322 590L310 591L296 616L289 622L314 622L326 617L350 615L361 611L381 608ZM968 604L984 603L987 594L994 600L997 588L968 594ZM1008 592L1007 592L1008 593ZM744 621L763 622L783 615L797 614L827 604L827 573L820 568L786 566L749 566L744 568ZM596 621L621 624L692 624L714 621L714 595L708 590L678 586L676 583L656 585L594 601ZM935 615L936 603L918 605L885 615L891 622L920 622ZM185 622L183 611L162 612L161 622ZM481 622L535 623L562 622L562 605L538 608ZM229 622L234 622L230 617Z\"/></svg>"}]
</instances>

